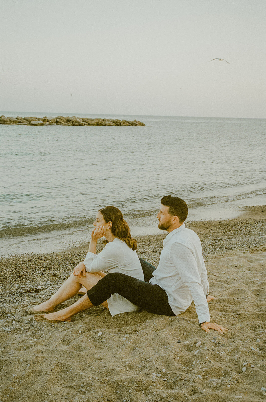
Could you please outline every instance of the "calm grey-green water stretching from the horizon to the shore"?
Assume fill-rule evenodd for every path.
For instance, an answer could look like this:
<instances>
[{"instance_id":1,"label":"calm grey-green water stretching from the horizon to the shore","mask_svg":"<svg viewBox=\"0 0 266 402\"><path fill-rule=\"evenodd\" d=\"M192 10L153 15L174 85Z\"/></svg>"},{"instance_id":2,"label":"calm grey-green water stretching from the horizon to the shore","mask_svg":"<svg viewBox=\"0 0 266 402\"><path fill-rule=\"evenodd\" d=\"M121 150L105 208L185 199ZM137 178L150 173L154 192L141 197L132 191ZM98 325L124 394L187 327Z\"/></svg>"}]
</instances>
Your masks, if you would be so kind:
<instances>
[{"instance_id":1,"label":"calm grey-green water stretching from the horizon to the shore","mask_svg":"<svg viewBox=\"0 0 266 402\"><path fill-rule=\"evenodd\" d=\"M146 216L167 194L191 208L266 194L266 119L112 117L147 127L0 125L2 238L79 227L105 205Z\"/></svg>"}]
</instances>

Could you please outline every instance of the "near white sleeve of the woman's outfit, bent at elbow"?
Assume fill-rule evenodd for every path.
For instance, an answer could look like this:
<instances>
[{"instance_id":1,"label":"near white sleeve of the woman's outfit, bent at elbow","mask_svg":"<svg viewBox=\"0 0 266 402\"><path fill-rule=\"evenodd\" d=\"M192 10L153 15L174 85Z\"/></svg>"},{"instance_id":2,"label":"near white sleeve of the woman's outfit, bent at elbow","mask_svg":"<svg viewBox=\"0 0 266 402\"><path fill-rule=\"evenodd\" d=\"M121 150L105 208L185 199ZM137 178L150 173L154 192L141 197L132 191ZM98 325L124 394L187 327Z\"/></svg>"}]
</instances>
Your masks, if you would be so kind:
<instances>
[{"instance_id":1,"label":"near white sleeve of the woman's outfit, bent at elbow","mask_svg":"<svg viewBox=\"0 0 266 402\"><path fill-rule=\"evenodd\" d=\"M114 247L114 244L108 246L108 244L97 255L89 251L87 252L83 261L87 272L106 271L117 267L121 263L124 257L121 248Z\"/></svg>"}]
</instances>

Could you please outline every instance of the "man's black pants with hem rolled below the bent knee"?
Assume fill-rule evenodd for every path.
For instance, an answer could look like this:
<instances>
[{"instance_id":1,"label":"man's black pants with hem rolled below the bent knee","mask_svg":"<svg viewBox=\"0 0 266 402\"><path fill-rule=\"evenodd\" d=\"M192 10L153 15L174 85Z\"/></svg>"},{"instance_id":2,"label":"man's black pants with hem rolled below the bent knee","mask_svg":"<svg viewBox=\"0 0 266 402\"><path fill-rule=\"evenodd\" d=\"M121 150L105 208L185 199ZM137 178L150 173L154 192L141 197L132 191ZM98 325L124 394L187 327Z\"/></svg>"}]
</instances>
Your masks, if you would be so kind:
<instances>
[{"instance_id":1,"label":"man's black pants with hem rolled below the bent knee","mask_svg":"<svg viewBox=\"0 0 266 402\"><path fill-rule=\"evenodd\" d=\"M167 293L160 286L149 283L155 267L141 258L140 263L144 281L118 272L109 273L87 291L93 306L98 306L114 293L118 293L142 310L164 316L174 316L168 303Z\"/></svg>"}]
</instances>

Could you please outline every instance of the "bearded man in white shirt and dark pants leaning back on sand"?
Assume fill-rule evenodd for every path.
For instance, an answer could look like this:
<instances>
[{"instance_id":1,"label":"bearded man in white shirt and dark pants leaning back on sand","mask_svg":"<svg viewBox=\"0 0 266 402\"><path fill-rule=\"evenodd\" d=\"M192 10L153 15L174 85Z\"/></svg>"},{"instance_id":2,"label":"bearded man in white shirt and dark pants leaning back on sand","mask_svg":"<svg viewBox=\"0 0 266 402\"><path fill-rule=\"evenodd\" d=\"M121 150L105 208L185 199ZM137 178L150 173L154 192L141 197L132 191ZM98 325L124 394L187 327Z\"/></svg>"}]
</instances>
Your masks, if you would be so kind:
<instances>
[{"instance_id":1,"label":"bearded man in white shirt and dark pants leaning back on sand","mask_svg":"<svg viewBox=\"0 0 266 402\"><path fill-rule=\"evenodd\" d=\"M188 208L179 197L165 196L157 218L158 228L167 230L157 269L140 260L144 280L122 273L109 273L71 306L50 314L38 314L36 320L70 321L74 314L98 306L114 293L125 297L143 310L155 314L177 316L187 310L192 300L201 328L212 328L225 334L228 330L209 322L207 295L209 283L199 237L185 228ZM85 276L86 267L80 263L75 275ZM209 300L213 297L209 296Z\"/></svg>"}]
</instances>

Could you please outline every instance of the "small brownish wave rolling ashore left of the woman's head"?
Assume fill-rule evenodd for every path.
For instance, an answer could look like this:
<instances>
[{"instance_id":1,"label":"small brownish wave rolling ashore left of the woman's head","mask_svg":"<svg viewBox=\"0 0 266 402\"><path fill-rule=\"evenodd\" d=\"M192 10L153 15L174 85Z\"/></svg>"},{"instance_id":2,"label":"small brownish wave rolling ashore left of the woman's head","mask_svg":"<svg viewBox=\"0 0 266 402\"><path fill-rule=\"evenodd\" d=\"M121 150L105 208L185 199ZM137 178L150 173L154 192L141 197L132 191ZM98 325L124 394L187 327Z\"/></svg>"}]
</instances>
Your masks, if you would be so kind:
<instances>
[{"instance_id":1,"label":"small brownish wave rolling ashore left of the woman's head","mask_svg":"<svg viewBox=\"0 0 266 402\"><path fill-rule=\"evenodd\" d=\"M91 225L94 218L78 219L71 222L60 222L53 224L45 224L40 226L16 226L13 228L2 228L0 230L0 238L26 236L29 234L53 232L54 230L65 230L71 228L79 228L81 226Z\"/></svg>"}]
</instances>

